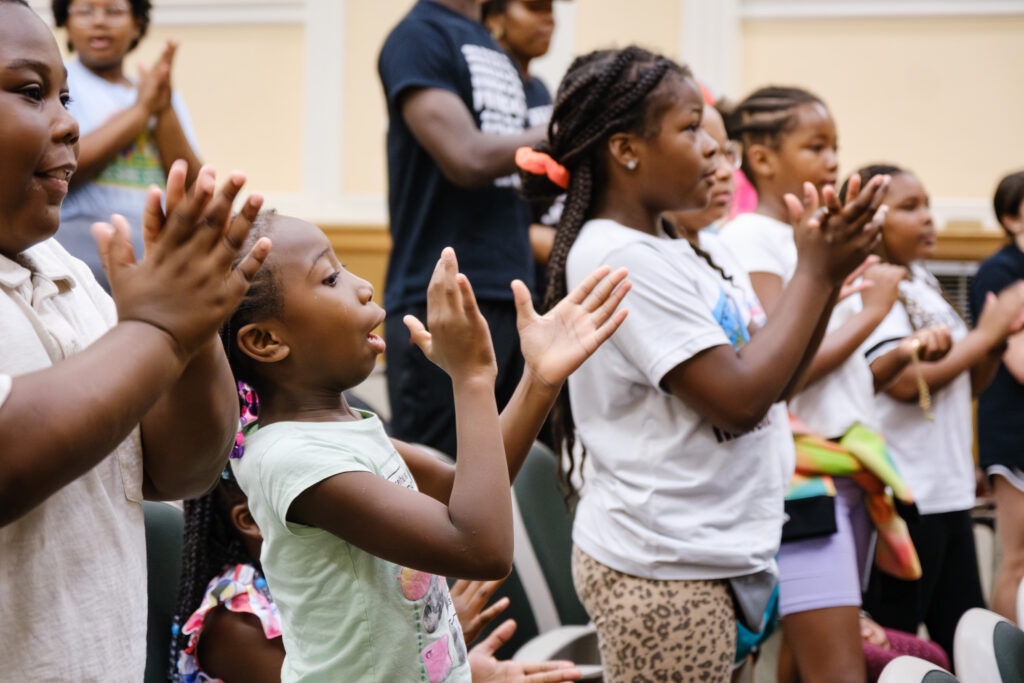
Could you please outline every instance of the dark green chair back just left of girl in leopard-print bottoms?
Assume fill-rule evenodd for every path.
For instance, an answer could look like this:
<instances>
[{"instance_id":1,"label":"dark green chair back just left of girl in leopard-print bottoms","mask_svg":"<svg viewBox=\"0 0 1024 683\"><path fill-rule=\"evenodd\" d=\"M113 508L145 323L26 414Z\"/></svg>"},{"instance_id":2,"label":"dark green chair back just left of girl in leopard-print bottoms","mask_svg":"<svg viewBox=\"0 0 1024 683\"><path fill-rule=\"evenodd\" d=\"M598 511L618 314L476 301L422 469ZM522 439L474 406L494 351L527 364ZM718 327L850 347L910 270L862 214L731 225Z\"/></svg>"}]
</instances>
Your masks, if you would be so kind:
<instances>
[{"instance_id":1,"label":"dark green chair back just left of girl in leopard-print bottoms","mask_svg":"<svg viewBox=\"0 0 1024 683\"><path fill-rule=\"evenodd\" d=\"M516 543L516 569L523 579L527 595L536 580L527 580L529 557L520 551L532 550L541 580L554 604L557 623L544 622L543 607L535 604L541 631L564 625L585 625L590 622L577 597L572 585L572 515L565 507L557 481L558 462L555 454L537 441L512 486L518 517L522 520L527 544ZM543 593L531 602L543 600ZM539 609L540 607L540 609Z\"/></svg>"}]
</instances>

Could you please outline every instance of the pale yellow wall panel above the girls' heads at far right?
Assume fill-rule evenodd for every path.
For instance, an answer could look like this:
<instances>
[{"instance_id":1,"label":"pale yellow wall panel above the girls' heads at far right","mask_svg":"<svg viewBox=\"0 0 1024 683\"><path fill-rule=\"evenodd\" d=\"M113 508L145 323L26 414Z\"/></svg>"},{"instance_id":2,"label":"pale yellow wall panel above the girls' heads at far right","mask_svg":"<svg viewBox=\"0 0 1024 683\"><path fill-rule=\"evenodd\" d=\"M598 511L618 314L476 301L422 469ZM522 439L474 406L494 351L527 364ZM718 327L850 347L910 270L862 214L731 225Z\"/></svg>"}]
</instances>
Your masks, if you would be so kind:
<instances>
[{"instance_id":1,"label":"pale yellow wall panel above the girls' heads at far right","mask_svg":"<svg viewBox=\"0 0 1024 683\"><path fill-rule=\"evenodd\" d=\"M799 84L833 110L841 173L908 166L933 197L987 200L1024 167L1024 17L748 20L743 91Z\"/></svg>"}]
</instances>

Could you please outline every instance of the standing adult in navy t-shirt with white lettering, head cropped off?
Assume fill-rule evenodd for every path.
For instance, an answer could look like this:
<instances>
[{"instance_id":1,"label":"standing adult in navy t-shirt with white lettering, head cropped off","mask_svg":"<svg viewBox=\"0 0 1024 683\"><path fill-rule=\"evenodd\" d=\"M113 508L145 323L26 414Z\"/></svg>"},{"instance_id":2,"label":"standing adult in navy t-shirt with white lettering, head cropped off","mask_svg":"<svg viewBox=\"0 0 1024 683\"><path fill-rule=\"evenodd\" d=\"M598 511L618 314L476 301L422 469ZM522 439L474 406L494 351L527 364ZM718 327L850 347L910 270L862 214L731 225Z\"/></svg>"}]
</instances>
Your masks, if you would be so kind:
<instances>
[{"instance_id":1,"label":"standing adult in navy t-shirt with white lettering, head cropped off","mask_svg":"<svg viewBox=\"0 0 1024 683\"><path fill-rule=\"evenodd\" d=\"M391 429L452 456L451 381L409 344L401 319L426 319L430 274L441 249L454 247L490 328L504 407L522 372L509 285L532 282L528 207L517 194L513 158L545 134L527 127L519 74L479 18L479 0L419 0L378 61L390 119L384 303Z\"/></svg>"}]
</instances>

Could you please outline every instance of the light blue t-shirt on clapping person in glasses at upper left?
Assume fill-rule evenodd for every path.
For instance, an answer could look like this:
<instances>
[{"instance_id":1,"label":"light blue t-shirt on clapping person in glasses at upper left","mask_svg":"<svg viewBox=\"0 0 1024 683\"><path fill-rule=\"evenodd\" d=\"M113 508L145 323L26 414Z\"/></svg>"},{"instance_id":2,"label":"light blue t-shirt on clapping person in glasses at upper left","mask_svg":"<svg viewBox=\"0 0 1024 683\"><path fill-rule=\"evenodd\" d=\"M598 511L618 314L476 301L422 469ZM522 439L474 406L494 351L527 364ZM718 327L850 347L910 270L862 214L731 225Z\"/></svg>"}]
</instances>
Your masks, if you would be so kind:
<instances>
[{"instance_id":1,"label":"light blue t-shirt on clapping person in glasses at upper left","mask_svg":"<svg viewBox=\"0 0 1024 683\"><path fill-rule=\"evenodd\" d=\"M68 87L72 101L68 111L78 121L80 134L102 126L114 114L135 103L138 89L111 83L96 76L77 59L69 61ZM171 94L171 105L193 150L199 151L191 121L184 100ZM150 185L163 187L167 176L160 161L156 139L147 128L128 147L121 151L106 168L84 185L74 188L60 207L60 230L57 239L69 252L89 264L101 282L102 265L89 226L96 221L109 221L111 214L120 213L128 219L136 254L142 249L142 207Z\"/></svg>"}]
</instances>

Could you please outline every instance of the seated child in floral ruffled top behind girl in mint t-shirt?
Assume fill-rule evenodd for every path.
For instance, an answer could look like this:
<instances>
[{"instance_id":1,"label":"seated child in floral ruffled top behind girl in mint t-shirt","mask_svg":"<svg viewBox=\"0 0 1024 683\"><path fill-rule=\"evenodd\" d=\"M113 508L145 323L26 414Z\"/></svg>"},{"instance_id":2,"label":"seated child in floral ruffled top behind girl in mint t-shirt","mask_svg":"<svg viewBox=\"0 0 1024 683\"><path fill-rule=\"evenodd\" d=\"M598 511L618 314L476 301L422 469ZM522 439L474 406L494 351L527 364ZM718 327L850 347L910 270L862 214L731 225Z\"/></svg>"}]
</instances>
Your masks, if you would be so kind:
<instances>
[{"instance_id":1,"label":"seated child in floral ruffled top behind girl in mint t-shirt","mask_svg":"<svg viewBox=\"0 0 1024 683\"><path fill-rule=\"evenodd\" d=\"M212 492L185 502L171 680L280 683L285 645L281 613L259 563L262 544L249 502L229 467ZM484 607L500 584L459 580L452 586L467 643L508 606L505 599ZM561 683L580 678L569 661L498 660L495 651L515 627L514 621L506 620L469 650L474 683Z\"/></svg>"}]
</instances>

